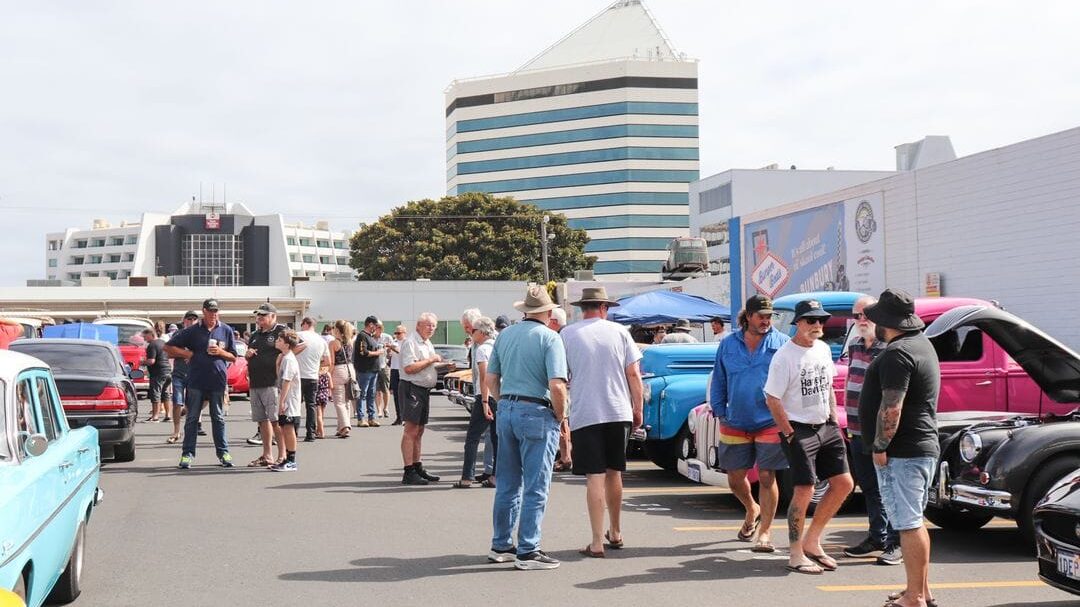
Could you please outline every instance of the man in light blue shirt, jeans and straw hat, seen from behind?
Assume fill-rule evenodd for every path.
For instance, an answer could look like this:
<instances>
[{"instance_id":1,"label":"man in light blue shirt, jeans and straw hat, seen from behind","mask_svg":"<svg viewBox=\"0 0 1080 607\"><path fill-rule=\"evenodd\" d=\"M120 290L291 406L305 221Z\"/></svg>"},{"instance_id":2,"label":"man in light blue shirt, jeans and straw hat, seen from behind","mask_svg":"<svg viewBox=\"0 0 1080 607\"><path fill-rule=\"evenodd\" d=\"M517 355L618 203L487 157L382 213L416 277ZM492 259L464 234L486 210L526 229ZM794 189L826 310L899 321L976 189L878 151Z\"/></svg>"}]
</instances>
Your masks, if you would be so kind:
<instances>
[{"instance_id":1,"label":"man in light blue shirt, jeans and straw hat, seen from behind","mask_svg":"<svg viewBox=\"0 0 1080 607\"><path fill-rule=\"evenodd\" d=\"M518 569L554 569L558 561L540 550L540 526L558 429L566 418L566 350L558 334L546 326L556 308L546 288L530 286L514 308L525 313L525 320L499 334L487 364L487 386L499 403L495 532L487 558L514 561Z\"/></svg>"}]
</instances>

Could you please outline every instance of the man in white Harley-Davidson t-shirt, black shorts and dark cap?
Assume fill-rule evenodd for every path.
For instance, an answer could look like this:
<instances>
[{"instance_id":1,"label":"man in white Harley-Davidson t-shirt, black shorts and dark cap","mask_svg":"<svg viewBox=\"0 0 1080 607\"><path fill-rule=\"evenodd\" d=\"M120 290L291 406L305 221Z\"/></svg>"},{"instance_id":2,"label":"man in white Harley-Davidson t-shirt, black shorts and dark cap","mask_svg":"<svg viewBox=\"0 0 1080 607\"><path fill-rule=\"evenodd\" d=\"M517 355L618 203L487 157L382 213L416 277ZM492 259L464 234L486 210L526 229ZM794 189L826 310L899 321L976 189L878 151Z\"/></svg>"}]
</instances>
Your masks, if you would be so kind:
<instances>
[{"instance_id":1,"label":"man in white Harley-Davidson t-shirt, black shorts and dark cap","mask_svg":"<svg viewBox=\"0 0 1080 607\"><path fill-rule=\"evenodd\" d=\"M795 306L795 337L784 343L769 364L765 382L766 404L780 428L781 446L791 464L795 485L787 508L787 539L791 556L787 569L797 574L821 575L836 569L836 559L825 554L821 536L853 483L836 417L833 377L836 367L828 345L821 340L829 313L814 299ZM807 508L814 485L828 481L828 490L814 510L806 535Z\"/></svg>"}]
</instances>

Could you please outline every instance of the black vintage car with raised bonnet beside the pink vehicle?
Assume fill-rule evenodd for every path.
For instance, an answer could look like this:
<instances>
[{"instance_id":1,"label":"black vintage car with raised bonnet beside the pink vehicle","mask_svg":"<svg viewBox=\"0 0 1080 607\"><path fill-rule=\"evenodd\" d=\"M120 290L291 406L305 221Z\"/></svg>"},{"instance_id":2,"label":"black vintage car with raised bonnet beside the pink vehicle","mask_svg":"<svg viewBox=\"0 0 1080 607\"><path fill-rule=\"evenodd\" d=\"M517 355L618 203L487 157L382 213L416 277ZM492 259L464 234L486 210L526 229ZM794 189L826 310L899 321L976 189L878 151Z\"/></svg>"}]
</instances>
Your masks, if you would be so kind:
<instances>
[{"instance_id":1,"label":"black vintage car with raised bonnet beside the pink vehicle","mask_svg":"<svg viewBox=\"0 0 1080 607\"><path fill-rule=\"evenodd\" d=\"M1080 403L1080 355L1068 347L988 306L950 310L927 327L927 336L960 326L989 335L1056 403ZM1061 410L1051 404L1044 410L1051 408ZM967 422L943 416L942 460L927 518L943 528L974 529L1003 516L1015 520L1025 541L1034 542L1035 504L1080 468L1080 408L1064 415L967 415Z\"/></svg>"}]
</instances>

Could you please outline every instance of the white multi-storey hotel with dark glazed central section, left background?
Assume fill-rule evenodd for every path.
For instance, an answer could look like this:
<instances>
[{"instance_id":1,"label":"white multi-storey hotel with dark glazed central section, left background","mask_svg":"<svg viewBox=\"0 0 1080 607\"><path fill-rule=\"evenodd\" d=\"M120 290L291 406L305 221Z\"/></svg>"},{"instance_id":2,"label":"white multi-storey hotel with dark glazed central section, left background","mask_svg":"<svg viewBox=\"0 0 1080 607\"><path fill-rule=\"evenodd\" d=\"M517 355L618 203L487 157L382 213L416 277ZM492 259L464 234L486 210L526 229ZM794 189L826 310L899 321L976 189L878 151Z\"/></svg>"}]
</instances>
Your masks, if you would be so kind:
<instances>
[{"instance_id":1,"label":"white multi-storey hotel with dark glazed central section, left background","mask_svg":"<svg viewBox=\"0 0 1080 607\"><path fill-rule=\"evenodd\" d=\"M46 284L281 286L352 280L349 232L286 224L241 203L185 203L139 221L45 234ZM30 281L31 284L37 281Z\"/></svg>"}]
</instances>

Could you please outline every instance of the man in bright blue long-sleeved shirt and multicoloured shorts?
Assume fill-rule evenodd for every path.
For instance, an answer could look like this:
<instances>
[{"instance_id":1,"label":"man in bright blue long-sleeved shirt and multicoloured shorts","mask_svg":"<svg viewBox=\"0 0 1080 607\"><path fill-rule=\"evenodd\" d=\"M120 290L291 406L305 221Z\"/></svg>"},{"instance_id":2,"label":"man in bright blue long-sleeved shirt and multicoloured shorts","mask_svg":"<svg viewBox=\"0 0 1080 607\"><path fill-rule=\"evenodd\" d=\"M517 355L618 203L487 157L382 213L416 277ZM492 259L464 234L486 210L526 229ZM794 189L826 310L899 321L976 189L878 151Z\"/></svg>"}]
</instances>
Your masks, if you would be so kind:
<instances>
[{"instance_id":1,"label":"man in bright blue long-sleeved shirt and multicoloured shorts","mask_svg":"<svg viewBox=\"0 0 1080 607\"><path fill-rule=\"evenodd\" d=\"M710 385L708 402L720 426L719 467L728 471L728 486L746 509L738 538L757 542L754 552L773 552L769 539L780 490L777 470L787 468L780 431L765 404L769 363L789 338L772 326L772 300L755 295L739 314L739 329L720 340ZM758 497L754 501L746 472L757 466Z\"/></svg>"}]
</instances>

